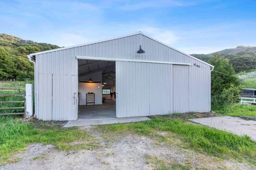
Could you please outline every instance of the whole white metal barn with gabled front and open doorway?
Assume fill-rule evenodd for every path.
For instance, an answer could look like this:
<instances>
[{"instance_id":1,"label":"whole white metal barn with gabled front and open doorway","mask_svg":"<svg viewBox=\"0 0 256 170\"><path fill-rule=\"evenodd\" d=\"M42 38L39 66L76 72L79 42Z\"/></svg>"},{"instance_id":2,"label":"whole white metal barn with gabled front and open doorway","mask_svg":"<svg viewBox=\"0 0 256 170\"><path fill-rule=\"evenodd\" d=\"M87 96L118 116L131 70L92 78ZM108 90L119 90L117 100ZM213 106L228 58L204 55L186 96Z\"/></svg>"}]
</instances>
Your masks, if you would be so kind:
<instances>
[{"instance_id":1,"label":"whole white metal barn with gabled front and open doorway","mask_svg":"<svg viewBox=\"0 0 256 170\"><path fill-rule=\"evenodd\" d=\"M40 120L211 110L213 66L142 32L28 57Z\"/></svg>"}]
</instances>

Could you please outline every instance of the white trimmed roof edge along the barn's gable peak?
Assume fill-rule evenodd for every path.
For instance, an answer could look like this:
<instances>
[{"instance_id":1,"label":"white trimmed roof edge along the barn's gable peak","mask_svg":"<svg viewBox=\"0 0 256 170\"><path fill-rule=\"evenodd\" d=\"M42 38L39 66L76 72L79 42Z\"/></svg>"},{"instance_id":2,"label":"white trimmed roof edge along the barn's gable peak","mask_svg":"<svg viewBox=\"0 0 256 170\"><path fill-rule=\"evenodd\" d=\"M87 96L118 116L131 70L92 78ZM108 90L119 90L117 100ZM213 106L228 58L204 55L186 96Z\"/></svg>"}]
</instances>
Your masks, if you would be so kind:
<instances>
[{"instance_id":1,"label":"white trimmed roof edge along the barn's gable peak","mask_svg":"<svg viewBox=\"0 0 256 170\"><path fill-rule=\"evenodd\" d=\"M57 49L46 50L46 51L43 51L43 52L32 53L32 54L29 54L29 55L27 55L27 56L28 56L29 60L31 61L31 57L32 57L32 56L35 56L35 55L44 54L44 53L50 53L50 52L56 52L56 51L63 50L63 49L81 47L81 46L86 46L86 45L91 45L91 44L103 43L103 42L105 42L105 41L115 40L115 39L119 39L119 38L125 38L125 37L129 37L129 36L134 36L134 35L143 35L143 36L148 37L148 38L150 38L150 39L156 41L157 43L160 43L160 44L162 44L162 45L164 45L164 46L166 46L166 47L169 47L169 48L171 48L171 49L173 49L173 50L175 50L175 51L177 51L177 52L179 52L179 53L181 53L181 54L184 54L184 55L186 55L186 56L188 56L188 57L194 58L195 60L197 60L197 61L199 61L199 62L201 62L201 63L204 63L204 64L206 64L206 65L209 65L209 66L212 67L212 68L214 67L213 65L211 65L211 64L209 64L209 63L206 63L206 62L204 62L204 61L202 61L202 60L199 60L198 58L196 58L196 57L194 57L194 56L191 56L191 55L189 55L189 54L186 54L186 53L184 53L184 52L181 52L180 50L178 50L178 49L176 49L176 48L173 48L173 47L171 47L171 46L169 46L169 45L167 45L167 44L162 43L161 41L158 41L158 40L156 40L156 39L154 39L154 38L152 38L152 37L150 37L150 36L147 36L147 35L145 35L145 33L143 33L143 32L136 32L136 33L132 33L132 34L130 34L130 35L125 35L125 36L120 36L120 37L115 37L115 38L110 38L110 39L105 39L105 40L100 40L100 41L94 41L94 42L92 42L92 43L85 43L85 44L79 44L79 45L74 45L74 46L69 46L69 47L62 47L62 48L57 48Z\"/></svg>"}]
</instances>

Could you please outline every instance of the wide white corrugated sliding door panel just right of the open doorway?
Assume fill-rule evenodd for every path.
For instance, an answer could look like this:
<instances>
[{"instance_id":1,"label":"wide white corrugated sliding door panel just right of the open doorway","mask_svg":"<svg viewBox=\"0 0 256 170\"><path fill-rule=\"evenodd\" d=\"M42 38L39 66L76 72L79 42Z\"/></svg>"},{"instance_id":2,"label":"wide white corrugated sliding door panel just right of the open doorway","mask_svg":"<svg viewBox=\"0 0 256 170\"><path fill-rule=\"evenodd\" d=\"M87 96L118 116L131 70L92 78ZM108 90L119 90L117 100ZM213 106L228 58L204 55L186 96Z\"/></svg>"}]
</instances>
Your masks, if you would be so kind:
<instances>
[{"instance_id":1,"label":"wide white corrugated sliding door panel just right of the open doorway","mask_svg":"<svg viewBox=\"0 0 256 170\"><path fill-rule=\"evenodd\" d=\"M172 112L172 65L116 62L116 116Z\"/></svg>"}]
</instances>

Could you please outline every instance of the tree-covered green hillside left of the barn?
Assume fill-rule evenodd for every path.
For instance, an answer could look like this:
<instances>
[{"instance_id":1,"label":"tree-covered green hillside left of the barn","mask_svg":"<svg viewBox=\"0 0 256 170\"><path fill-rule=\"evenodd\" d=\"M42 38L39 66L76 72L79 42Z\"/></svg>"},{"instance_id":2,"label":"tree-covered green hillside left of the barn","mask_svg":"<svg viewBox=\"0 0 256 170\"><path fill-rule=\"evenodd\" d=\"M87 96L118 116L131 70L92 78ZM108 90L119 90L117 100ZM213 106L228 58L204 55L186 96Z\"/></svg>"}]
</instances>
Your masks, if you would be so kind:
<instances>
[{"instance_id":1,"label":"tree-covered green hillside left of the barn","mask_svg":"<svg viewBox=\"0 0 256 170\"><path fill-rule=\"evenodd\" d=\"M0 80L34 78L34 65L27 54L59 48L57 45L36 43L0 33Z\"/></svg>"}]
</instances>

